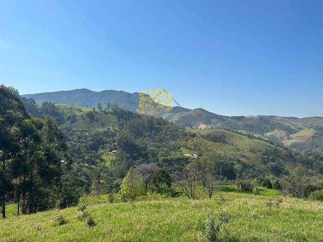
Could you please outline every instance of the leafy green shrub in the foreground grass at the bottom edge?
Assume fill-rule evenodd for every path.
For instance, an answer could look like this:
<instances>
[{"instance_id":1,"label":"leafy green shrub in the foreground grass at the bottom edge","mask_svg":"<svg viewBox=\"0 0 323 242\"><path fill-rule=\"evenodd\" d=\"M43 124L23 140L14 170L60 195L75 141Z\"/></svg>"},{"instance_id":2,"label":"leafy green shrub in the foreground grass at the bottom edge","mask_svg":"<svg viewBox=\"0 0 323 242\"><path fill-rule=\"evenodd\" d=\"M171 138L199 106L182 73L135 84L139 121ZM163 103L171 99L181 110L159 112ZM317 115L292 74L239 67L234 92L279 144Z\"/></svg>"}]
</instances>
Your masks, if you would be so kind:
<instances>
[{"instance_id":1,"label":"leafy green shrub in the foreground grass at the bottom edge","mask_svg":"<svg viewBox=\"0 0 323 242\"><path fill-rule=\"evenodd\" d=\"M226 213L220 213L218 218L210 213L205 222L199 220L198 224L202 231L202 234L210 241L210 242L219 242L220 237L219 233L221 228L229 222L229 217Z\"/></svg>"}]
</instances>

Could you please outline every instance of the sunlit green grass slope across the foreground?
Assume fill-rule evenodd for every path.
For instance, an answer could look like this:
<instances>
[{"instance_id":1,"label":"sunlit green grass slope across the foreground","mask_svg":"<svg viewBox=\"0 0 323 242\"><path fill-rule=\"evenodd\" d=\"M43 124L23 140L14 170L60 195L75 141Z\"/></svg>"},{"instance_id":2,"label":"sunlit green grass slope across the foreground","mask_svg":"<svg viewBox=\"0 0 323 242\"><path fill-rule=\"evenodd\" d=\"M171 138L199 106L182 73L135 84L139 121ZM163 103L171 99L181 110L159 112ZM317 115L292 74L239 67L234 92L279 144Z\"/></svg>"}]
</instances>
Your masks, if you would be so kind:
<instances>
[{"instance_id":1,"label":"sunlit green grass slope across the foreground","mask_svg":"<svg viewBox=\"0 0 323 242\"><path fill-rule=\"evenodd\" d=\"M323 204L277 196L218 192L221 200L184 197L136 203L89 205L95 222L88 227L77 209L54 210L0 220L0 241L206 241L197 226L210 212L226 211L227 241L323 241ZM283 199L283 200L282 200ZM62 214L67 224L57 226Z\"/></svg>"}]
</instances>

